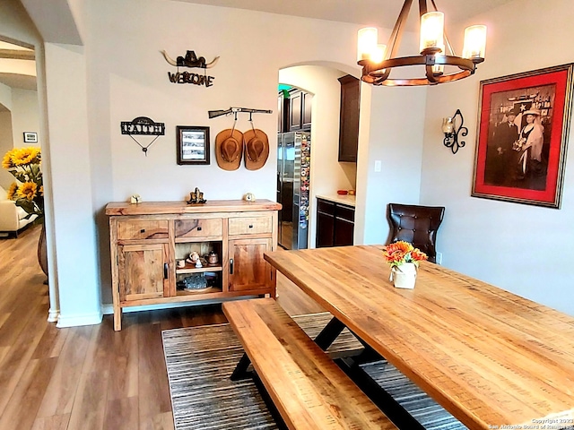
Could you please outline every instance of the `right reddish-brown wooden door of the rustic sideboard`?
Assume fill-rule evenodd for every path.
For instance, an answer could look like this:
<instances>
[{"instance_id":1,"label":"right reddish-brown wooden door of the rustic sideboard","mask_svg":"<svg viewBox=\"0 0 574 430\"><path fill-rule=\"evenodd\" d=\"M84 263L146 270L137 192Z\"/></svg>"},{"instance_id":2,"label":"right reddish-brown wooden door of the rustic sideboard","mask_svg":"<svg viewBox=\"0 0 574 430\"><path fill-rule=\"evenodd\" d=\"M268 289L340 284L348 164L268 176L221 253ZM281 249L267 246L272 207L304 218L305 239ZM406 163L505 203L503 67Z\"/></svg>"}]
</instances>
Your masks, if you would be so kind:
<instances>
[{"instance_id":1,"label":"right reddish-brown wooden door of the rustic sideboard","mask_svg":"<svg viewBox=\"0 0 574 430\"><path fill-rule=\"evenodd\" d=\"M273 249L272 239L233 239L229 244L230 291L270 288L271 266L263 253Z\"/></svg>"}]
</instances>

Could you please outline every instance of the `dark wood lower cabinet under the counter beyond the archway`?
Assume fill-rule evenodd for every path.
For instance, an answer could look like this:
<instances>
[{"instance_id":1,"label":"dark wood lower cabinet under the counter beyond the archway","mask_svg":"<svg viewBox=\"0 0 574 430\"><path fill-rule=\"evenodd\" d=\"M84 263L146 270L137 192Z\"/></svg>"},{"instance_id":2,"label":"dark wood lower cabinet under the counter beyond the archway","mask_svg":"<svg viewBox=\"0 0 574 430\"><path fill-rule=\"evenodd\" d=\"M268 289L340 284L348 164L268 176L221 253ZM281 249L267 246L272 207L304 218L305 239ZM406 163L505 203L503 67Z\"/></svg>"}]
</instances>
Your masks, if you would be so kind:
<instances>
[{"instance_id":1,"label":"dark wood lower cabinet under the counter beyond the archway","mask_svg":"<svg viewBox=\"0 0 574 430\"><path fill-rule=\"evenodd\" d=\"M317 199L317 248L352 245L354 219L352 206Z\"/></svg>"}]
</instances>

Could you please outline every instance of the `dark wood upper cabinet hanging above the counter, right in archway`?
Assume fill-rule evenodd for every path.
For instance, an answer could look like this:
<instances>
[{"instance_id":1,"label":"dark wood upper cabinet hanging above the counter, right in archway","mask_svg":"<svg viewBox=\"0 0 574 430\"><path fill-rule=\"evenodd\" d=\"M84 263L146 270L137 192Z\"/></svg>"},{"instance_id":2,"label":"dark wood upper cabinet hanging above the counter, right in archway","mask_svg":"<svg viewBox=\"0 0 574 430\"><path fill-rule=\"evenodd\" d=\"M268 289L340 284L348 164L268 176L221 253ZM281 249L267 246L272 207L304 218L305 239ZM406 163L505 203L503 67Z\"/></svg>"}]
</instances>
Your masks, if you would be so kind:
<instances>
[{"instance_id":1,"label":"dark wood upper cabinet hanging above the counter, right in archway","mask_svg":"<svg viewBox=\"0 0 574 430\"><path fill-rule=\"evenodd\" d=\"M339 161L357 162L361 81L347 74L339 78L339 82L341 82Z\"/></svg>"}]
</instances>

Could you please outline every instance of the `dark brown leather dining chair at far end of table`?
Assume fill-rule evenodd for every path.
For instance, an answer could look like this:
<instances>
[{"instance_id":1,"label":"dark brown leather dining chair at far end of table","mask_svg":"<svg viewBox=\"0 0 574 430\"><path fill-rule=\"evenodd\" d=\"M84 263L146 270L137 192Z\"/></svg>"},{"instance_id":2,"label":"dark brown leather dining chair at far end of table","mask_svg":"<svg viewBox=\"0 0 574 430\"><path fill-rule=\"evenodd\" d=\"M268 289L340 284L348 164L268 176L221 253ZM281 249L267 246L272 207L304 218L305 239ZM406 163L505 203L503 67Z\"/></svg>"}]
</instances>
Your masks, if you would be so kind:
<instances>
[{"instance_id":1,"label":"dark brown leather dining chair at far end of table","mask_svg":"<svg viewBox=\"0 0 574 430\"><path fill-rule=\"evenodd\" d=\"M409 242L427 254L430 262L437 262L437 231L444 215L444 206L388 203L390 242Z\"/></svg>"}]
</instances>

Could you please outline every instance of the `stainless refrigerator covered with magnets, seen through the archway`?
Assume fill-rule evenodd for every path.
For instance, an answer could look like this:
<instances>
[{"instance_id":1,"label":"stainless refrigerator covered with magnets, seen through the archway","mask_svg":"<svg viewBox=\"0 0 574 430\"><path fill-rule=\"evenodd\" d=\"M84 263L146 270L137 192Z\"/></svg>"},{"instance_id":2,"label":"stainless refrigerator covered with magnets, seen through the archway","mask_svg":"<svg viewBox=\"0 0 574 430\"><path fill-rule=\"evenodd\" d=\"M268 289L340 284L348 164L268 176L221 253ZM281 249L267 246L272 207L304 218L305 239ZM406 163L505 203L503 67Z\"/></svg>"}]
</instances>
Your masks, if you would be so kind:
<instances>
[{"instance_id":1,"label":"stainless refrigerator covered with magnets, seen through the archway","mask_svg":"<svg viewBox=\"0 0 574 430\"><path fill-rule=\"evenodd\" d=\"M307 248L309 231L309 166L311 133L277 135L277 202L279 245L285 249Z\"/></svg>"}]
</instances>

